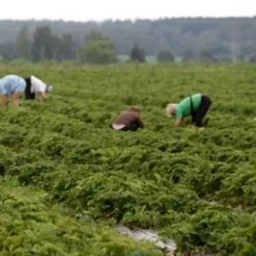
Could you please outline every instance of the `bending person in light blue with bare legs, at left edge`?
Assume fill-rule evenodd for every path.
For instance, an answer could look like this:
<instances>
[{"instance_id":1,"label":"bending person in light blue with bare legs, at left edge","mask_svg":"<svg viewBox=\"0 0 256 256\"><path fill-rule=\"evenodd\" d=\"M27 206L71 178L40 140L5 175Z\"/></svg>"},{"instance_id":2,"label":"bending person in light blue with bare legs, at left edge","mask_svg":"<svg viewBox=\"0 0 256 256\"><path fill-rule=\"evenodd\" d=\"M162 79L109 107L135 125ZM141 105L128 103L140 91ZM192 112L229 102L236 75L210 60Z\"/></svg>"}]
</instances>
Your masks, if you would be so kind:
<instances>
[{"instance_id":1,"label":"bending person in light blue with bare legs, at left edge","mask_svg":"<svg viewBox=\"0 0 256 256\"><path fill-rule=\"evenodd\" d=\"M7 105L9 98L11 98L13 106L18 108L20 106L20 96L25 89L25 80L15 74L10 74L0 79L0 94L3 107Z\"/></svg>"}]
</instances>

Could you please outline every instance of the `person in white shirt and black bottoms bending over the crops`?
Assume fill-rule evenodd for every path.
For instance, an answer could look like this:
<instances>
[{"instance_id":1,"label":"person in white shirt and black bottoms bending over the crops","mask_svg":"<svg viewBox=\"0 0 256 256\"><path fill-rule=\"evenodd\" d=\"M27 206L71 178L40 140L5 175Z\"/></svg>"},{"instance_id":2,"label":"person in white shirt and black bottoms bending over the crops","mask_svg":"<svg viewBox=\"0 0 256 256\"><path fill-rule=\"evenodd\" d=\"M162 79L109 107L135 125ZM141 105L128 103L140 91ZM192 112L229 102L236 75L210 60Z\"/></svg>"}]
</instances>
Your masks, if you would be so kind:
<instances>
[{"instance_id":1,"label":"person in white shirt and black bottoms bending over the crops","mask_svg":"<svg viewBox=\"0 0 256 256\"><path fill-rule=\"evenodd\" d=\"M35 76L24 78L26 81L25 99L35 100L36 94L39 96L39 101L44 102L48 98L48 93L53 90L53 87Z\"/></svg>"}]
</instances>

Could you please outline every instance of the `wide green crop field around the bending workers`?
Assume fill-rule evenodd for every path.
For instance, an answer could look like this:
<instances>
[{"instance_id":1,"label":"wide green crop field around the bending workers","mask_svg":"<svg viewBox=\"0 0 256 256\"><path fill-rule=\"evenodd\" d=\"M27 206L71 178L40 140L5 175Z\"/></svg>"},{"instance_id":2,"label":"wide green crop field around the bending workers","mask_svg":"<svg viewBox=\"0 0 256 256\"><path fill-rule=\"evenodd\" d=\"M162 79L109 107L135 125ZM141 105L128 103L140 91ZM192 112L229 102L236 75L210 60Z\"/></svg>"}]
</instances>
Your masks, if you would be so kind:
<instances>
[{"instance_id":1,"label":"wide green crop field around the bending workers","mask_svg":"<svg viewBox=\"0 0 256 256\"><path fill-rule=\"evenodd\" d=\"M54 85L0 110L2 255L165 255L115 231L158 230L195 251L256 255L253 66L0 67ZM174 128L166 104L212 98L207 129ZM146 128L113 131L140 105Z\"/></svg>"}]
</instances>

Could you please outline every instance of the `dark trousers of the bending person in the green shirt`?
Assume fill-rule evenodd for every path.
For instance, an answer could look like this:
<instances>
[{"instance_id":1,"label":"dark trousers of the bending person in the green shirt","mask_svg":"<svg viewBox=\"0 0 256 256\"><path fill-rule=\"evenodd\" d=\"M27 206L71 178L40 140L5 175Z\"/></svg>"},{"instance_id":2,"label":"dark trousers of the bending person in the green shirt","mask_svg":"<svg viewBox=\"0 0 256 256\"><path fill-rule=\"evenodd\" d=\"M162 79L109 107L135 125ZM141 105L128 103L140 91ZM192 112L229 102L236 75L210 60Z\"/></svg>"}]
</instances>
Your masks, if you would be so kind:
<instances>
[{"instance_id":1,"label":"dark trousers of the bending person in the green shirt","mask_svg":"<svg viewBox=\"0 0 256 256\"><path fill-rule=\"evenodd\" d=\"M201 104L195 113L192 113L192 122L195 123L197 127L203 127L207 125L207 119L203 121L209 108L212 105L212 100L207 95L201 96Z\"/></svg>"}]
</instances>

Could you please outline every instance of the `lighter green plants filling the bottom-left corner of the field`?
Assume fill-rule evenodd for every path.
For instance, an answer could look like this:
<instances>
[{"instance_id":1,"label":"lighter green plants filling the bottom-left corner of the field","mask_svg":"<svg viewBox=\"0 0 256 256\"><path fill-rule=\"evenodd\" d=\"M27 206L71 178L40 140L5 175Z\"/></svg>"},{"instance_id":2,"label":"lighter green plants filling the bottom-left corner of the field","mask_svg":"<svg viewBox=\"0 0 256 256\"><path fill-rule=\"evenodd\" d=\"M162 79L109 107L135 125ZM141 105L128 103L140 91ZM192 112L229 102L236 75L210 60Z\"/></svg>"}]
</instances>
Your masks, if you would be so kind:
<instances>
[{"instance_id":1,"label":"lighter green plants filling the bottom-left corner of the field","mask_svg":"<svg viewBox=\"0 0 256 256\"><path fill-rule=\"evenodd\" d=\"M154 246L119 236L106 225L68 218L45 194L0 178L0 249L3 255L162 255Z\"/></svg>"}]
</instances>

